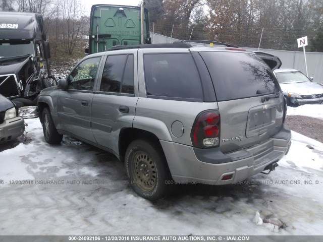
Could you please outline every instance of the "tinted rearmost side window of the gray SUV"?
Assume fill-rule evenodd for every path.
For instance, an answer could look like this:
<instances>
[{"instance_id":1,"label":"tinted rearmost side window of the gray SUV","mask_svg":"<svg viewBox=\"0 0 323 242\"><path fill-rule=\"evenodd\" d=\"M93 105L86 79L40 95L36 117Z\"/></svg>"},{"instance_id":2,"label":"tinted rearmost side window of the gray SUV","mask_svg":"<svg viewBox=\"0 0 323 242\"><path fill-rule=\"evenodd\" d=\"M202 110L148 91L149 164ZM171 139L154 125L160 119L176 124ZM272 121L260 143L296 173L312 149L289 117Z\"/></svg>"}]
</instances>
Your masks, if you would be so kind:
<instances>
[{"instance_id":1,"label":"tinted rearmost side window of the gray SUV","mask_svg":"<svg viewBox=\"0 0 323 242\"><path fill-rule=\"evenodd\" d=\"M199 74L189 53L144 55L147 97L202 101Z\"/></svg>"}]
</instances>

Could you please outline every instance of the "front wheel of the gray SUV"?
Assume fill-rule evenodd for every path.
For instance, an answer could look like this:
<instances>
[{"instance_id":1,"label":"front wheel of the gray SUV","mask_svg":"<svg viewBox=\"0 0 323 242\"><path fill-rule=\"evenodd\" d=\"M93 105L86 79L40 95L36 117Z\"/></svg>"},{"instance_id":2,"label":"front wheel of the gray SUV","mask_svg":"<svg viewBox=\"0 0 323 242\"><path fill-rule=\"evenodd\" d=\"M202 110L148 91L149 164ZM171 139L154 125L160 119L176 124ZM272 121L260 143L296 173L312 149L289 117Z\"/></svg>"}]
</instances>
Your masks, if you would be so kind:
<instances>
[{"instance_id":1,"label":"front wheel of the gray SUV","mask_svg":"<svg viewBox=\"0 0 323 242\"><path fill-rule=\"evenodd\" d=\"M42 122L42 131L44 133L45 141L52 145L60 144L63 139L63 135L60 135L57 132L48 107L44 108L42 111Z\"/></svg>"}]
</instances>

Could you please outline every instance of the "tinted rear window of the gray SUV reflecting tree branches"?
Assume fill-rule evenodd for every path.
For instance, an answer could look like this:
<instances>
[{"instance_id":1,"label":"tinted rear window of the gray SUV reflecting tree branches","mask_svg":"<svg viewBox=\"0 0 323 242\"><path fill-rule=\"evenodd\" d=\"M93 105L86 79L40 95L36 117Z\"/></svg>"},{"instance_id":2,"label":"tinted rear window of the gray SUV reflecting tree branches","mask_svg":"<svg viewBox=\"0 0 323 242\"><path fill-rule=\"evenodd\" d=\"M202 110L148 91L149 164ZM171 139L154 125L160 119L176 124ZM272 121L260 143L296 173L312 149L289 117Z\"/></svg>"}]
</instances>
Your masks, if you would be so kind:
<instances>
[{"instance_id":1,"label":"tinted rear window of the gray SUV reflecting tree branches","mask_svg":"<svg viewBox=\"0 0 323 242\"><path fill-rule=\"evenodd\" d=\"M216 89L218 101L276 93L272 70L252 53L200 52Z\"/></svg>"}]
</instances>

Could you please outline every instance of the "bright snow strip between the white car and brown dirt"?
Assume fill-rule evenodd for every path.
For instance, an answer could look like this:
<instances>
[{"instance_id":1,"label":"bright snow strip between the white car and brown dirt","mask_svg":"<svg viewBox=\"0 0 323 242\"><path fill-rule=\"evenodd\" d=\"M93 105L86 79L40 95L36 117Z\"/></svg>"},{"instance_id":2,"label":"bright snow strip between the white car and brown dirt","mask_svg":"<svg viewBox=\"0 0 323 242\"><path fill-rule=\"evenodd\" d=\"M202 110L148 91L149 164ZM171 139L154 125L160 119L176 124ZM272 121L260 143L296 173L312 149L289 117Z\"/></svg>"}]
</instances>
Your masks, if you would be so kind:
<instances>
[{"instance_id":1,"label":"bright snow strip between the white car and brown dirt","mask_svg":"<svg viewBox=\"0 0 323 242\"><path fill-rule=\"evenodd\" d=\"M323 105L306 104L298 107L287 107L287 115L302 115L323 119Z\"/></svg>"}]
</instances>

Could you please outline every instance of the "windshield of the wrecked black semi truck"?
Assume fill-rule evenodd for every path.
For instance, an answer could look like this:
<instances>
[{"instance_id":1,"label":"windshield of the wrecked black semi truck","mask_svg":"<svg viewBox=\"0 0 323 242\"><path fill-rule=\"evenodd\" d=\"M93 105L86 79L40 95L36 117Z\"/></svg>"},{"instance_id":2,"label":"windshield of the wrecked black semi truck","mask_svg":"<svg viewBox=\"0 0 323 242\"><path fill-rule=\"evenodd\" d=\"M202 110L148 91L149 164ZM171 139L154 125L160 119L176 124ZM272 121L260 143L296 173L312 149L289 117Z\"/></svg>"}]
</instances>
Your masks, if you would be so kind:
<instances>
[{"instance_id":1,"label":"windshield of the wrecked black semi truck","mask_svg":"<svg viewBox=\"0 0 323 242\"><path fill-rule=\"evenodd\" d=\"M35 56L32 41L0 42L0 58L32 54Z\"/></svg>"}]
</instances>

